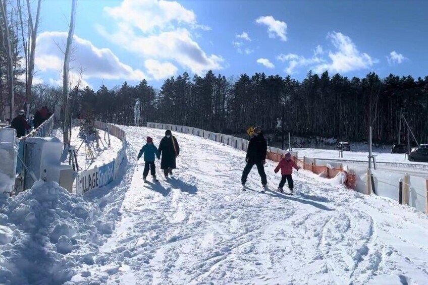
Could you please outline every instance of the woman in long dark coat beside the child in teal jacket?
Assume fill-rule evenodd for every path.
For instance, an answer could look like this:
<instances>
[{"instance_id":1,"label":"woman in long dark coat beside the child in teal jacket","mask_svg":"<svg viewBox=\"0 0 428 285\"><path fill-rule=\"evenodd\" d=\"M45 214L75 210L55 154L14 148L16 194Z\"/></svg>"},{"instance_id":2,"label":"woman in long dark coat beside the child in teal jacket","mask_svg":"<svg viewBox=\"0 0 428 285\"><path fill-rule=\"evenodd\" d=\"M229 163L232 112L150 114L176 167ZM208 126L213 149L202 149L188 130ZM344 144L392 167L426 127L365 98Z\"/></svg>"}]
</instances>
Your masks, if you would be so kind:
<instances>
[{"instance_id":1,"label":"woman in long dark coat beside the child in teal jacket","mask_svg":"<svg viewBox=\"0 0 428 285\"><path fill-rule=\"evenodd\" d=\"M173 175L172 169L177 168L176 157L180 154L177 139L170 130L165 132L165 137L161 140L158 150L162 155L161 169L164 170L165 178L168 178L168 175Z\"/></svg>"}]
</instances>

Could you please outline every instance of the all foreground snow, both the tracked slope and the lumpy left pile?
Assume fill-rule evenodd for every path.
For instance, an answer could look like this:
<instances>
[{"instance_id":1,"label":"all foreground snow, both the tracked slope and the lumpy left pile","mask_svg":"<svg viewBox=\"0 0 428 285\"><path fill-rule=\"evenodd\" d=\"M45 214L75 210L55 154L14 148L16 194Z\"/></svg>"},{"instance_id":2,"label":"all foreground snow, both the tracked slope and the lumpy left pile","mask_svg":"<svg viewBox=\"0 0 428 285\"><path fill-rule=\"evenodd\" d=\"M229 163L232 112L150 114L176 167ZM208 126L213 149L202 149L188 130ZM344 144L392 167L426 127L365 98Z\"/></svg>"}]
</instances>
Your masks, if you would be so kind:
<instances>
[{"instance_id":1,"label":"all foreground snow, both the tracked slope and the lumpy left pile","mask_svg":"<svg viewBox=\"0 0 428 285\"><path fill-rule=\"evenodd\" d=\"M243 192L245 153L185 134L174 134L174 178L146 185L135 158L164 131L123 128L121 182L84 199L40 182L5 202L0 283L428 283L428 217L416 209L304 171L298 194L282 195L272 162L270 191L254 168Z\"/></svg>"}]
</instances>

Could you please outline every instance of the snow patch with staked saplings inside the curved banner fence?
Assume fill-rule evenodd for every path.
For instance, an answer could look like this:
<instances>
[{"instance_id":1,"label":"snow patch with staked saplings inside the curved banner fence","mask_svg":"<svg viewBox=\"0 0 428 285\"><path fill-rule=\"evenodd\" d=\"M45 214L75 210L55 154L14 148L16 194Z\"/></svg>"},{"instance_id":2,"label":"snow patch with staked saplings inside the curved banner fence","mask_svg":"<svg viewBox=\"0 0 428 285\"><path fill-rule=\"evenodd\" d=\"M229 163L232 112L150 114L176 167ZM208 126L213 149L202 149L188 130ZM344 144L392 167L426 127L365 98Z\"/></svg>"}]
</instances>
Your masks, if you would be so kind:
<instances>
[{"instance_id":1,"label":"snow patch with staked saplings inside the curved banner fence","mask_svg":"<svg viewBox=\"0 0 428 285\"><path fill-rule=\"evenodd\" d=\"M79 136L80 127L74 127L71 132L71 144L76 147L77 151L77 163L79 164L80 170L86 170L93 168L95 166L101 166L102 164L109 163L116 158L117 153L122 148L122 142L115 136L110 136L110 144L108 134L102 130L98 130L99 133L99 147L96 147L96 141L92 145L92 141L89 140L91 145L91 150L95 156L95 159L91 159L89 153L87 152L88 146L86 143L82 145L83 138ZM59 138L63 141L63 132L62 129L53 130L52 137ZM67 160L68 161L68 160Z\"/></svg>"}]
</instances>

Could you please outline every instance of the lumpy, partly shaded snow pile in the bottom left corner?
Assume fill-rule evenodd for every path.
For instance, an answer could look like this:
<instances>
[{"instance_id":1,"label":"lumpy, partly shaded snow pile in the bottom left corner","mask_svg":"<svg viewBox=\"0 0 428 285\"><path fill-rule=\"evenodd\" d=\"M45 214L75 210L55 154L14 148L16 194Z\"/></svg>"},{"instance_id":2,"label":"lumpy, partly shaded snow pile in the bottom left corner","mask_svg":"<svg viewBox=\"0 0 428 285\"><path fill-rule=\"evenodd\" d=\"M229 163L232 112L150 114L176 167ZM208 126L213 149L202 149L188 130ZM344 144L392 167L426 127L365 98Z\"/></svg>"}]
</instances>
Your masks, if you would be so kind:
<instances>
[{"instance_id":1,"label":"lumpy, partly shaded snow pile in the bottom left corner","mask_svg":"<svg viewBox=\"0 0 428 285\"><path fill-rule=\"evenodd\" d=\"M7 199L0 213L0 283L69 281L98 253L98 215L98 206L55 182L36 182Z\"/></svg>"}]
</instances>

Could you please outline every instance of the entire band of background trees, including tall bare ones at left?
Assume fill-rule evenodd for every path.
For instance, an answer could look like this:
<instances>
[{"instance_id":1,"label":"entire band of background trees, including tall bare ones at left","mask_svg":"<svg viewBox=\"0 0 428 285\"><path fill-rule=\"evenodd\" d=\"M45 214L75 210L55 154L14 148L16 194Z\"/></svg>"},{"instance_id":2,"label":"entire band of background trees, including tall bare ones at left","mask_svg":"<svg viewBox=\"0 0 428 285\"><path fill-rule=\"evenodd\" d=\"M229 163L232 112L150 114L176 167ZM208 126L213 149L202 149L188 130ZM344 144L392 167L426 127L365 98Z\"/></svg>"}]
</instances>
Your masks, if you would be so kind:
<instances>
[{"instance_id":1,"label":"entire band of background trees, including tall bare ones at left","mask_svg":"<svg viewBox=\"0 0 428 285\"><path fill-rule=\"evenodd\" d=\"M97 91L72 88L67 48L73 36L76 0L71 3L64 82L54 87L33 84L41 0L33 4L0 0L0 120L9 119L8 110L10 117L16 109L25 109L28 116L42 105L52 111L60 105L65 130L72 116L127 125L163 122L235 134L260 125L271 133L284 130L357 141L365 140L372 126L374 141L394 142L402 110L418 142L428 142L428 77L390 74L381 79L368 73L364 78L348 78L326 71L321 75L309 72L298 81L264 73L226 78L209 71L168 78L158 90L145 80L137 86L125 82L109 89L103 85ZM404 124L401 130L405 141Z\"/></svg>"}]
</instances>

